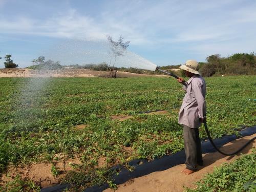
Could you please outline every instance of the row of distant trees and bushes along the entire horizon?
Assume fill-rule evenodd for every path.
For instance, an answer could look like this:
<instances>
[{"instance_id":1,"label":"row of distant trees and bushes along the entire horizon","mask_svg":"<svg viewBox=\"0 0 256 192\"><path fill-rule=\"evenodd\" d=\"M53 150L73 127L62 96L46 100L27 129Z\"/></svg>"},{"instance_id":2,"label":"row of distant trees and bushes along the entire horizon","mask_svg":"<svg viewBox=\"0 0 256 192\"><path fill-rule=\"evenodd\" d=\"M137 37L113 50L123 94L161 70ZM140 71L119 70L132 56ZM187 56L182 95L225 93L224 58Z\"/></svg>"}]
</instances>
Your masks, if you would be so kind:
<instances>
[{"instance_id":1,"label":"row of distant trees and bushes along the entire horizon","mask_svg":"<svg viewBox=\"0 0 256 192\"><path fill-rule=\"evenodd\" d=\"M1 59L2 57L0 57ZM11 55L5 57L5 68L17 68L18 65L13 62ZM116 62L117 59L115 59ZM44 56L39 56L37 59L32 60L33 66L29 69L63 69L59 61L45 60ZM115 63L114 62L114 63ZM87 65L70 65L66 66L75 69L91 69L96 71L108 71L110 65L106 62L99 64L90 63ZM180 65L162 66L163 70L179 69ZM137 68L118 68L113 65L115 71L124 71L139 74L159 74L159 72L152 72ZM235 53L228 57L221 57L219 54L210 55L206 58L206 62L199 62L199 72L204 77L218 76L218 75L255 75L256 74L256 54L253 53ZM182 71L176 72L177 75L183 76Z\"/></svg>"}]
</instances>

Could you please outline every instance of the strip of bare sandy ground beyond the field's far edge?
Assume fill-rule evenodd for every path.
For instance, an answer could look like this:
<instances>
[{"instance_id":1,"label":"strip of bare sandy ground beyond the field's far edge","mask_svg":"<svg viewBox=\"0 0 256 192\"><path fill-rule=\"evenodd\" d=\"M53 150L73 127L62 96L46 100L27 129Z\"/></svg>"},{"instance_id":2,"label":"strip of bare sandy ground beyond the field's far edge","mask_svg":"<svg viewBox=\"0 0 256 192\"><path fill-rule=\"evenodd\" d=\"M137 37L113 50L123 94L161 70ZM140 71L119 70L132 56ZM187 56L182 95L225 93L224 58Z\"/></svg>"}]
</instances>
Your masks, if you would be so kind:
<instances>
[{"instance_id":1,"label":"strip of bare sandy ground beyond the field's far edge","mask_svg":"<svg viewBox=\"0 0 256 192\"><path fill-rule=\"evenodd\" d=\"M30 70L30 69L0 69L0 77L109 77L108 71L93 71L89 69L62 70ZM165 76L145 75L128 72L118 72L119 77Z\"/></svg>"}]
</instances>

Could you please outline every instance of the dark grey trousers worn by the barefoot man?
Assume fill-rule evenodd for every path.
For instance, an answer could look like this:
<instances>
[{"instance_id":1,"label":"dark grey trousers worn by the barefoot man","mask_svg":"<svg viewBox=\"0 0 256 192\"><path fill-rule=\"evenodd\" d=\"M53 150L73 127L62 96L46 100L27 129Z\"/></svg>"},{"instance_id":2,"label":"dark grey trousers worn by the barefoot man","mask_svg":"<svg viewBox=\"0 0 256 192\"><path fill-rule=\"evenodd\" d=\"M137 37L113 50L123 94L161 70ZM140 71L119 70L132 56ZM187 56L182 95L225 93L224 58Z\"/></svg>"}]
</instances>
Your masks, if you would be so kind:
<instances>
[{"instance_id":1,"label":"dark grey trousers worn by the barefoot man","mask_svg":"<svg viewBox=\"0 0 256 192\"><path fill-rule=\"evenodd\" d=\"M183 125L184 148L186 154L186 168L197 170L197 164L203 165L201 142L198 128Z\"/></svg>"}]
</instances>

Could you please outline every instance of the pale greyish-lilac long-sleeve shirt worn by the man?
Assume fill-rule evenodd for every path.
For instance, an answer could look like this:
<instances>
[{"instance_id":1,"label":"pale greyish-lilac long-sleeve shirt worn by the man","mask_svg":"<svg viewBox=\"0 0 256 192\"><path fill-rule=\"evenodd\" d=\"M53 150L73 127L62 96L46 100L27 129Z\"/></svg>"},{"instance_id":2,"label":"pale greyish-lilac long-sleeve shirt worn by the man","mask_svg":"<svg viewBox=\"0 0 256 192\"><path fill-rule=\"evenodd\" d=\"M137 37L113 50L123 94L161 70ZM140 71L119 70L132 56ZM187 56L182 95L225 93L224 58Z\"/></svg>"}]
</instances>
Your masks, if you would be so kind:
<instances>
[{"instance_id":1,"label":"pale greyish-lilac long-sleeve shirt worn by the man","mask_svg":"<svg viewBox=\"0 0 256 192\"><path fill-rule=\"evenodd\" d=\"M194 75L187 81L186 94L179 113L179 124L187 125L191 128L201 126L199 118L206 116L205 80L200 75Z\"/></svg>"}]
</instances>

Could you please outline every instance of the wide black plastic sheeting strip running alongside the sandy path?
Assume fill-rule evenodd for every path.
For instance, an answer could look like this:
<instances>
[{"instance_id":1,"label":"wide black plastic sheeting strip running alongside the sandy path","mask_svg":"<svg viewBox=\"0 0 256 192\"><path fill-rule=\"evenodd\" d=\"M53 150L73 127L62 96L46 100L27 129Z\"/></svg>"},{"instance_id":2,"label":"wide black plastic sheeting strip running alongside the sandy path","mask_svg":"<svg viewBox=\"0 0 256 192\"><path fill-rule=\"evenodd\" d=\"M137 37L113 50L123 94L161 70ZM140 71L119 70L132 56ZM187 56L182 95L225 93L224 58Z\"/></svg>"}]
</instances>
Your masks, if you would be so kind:
<instances>
[{"instance_id":1,"label":"wide black plastic sheeting strip running alongside the sandy path","mask_svg":"<svg viewBox=\"0 0 256 192\"><path fill-rule=\"evenodd\" d=\"M236 135L227 135L219 139L214 139L214 143L219 148L224 144L233 141L235 139L249 136L256 133L256 126L247 127L246 129L240 131L240 137ZM213 153L216 152L216 149L211 145L211 143L207 141L202 142L202 153ZM129 162L130 166L134 166L135 169L133 172L125 169L122 165L117 165L112 167L112 170L118 170L119 174L113 176L115 184L122 184L125 181L137 177L141 177L153 172L159 172L161 170L166 170L170 167L183 164L185 162L185 153L184 150L169 156L163 156L158 159L154 159L153 161L148 162L147 159L135 159ZM53 187L42 188L41 192L60 192L65 190L66 188L70 188L69 184L56 185ZM84 190L84 192L100 192L104 189L109 188L109 184L105 183L101 186L95 185L90 188Z\"/></svg>"}]
</instances>

